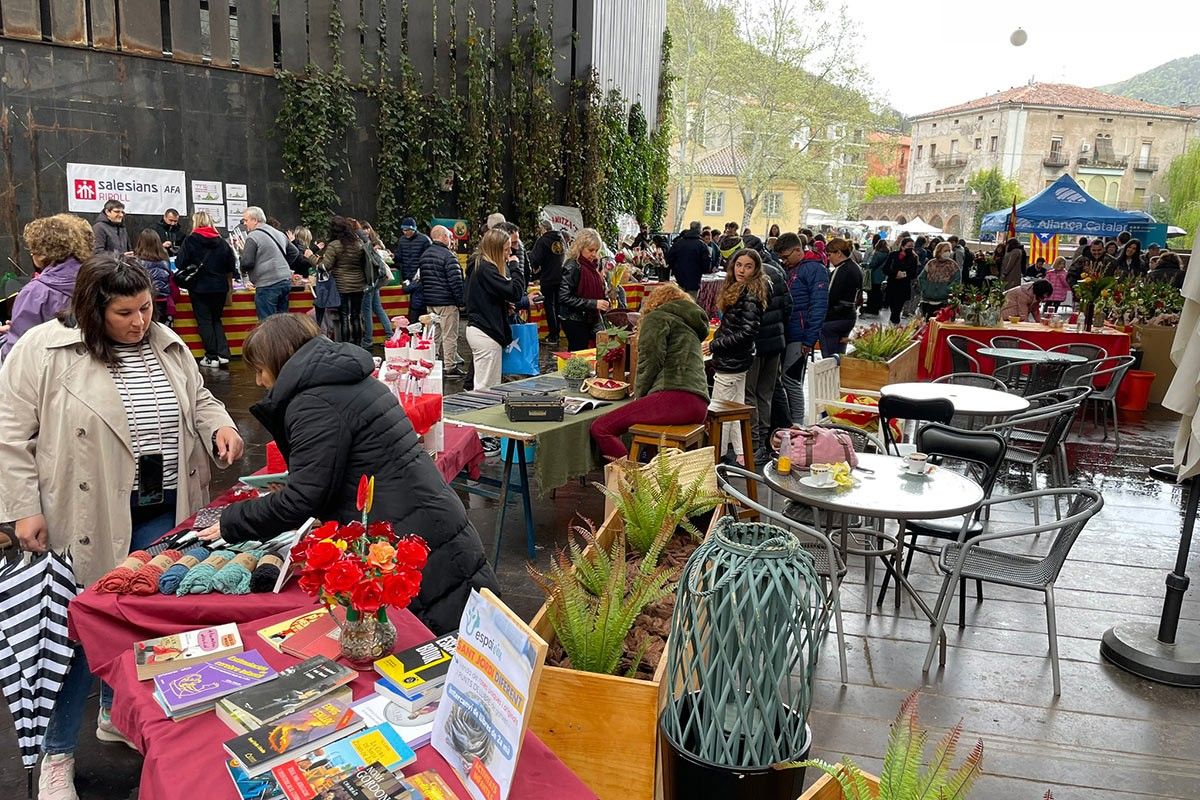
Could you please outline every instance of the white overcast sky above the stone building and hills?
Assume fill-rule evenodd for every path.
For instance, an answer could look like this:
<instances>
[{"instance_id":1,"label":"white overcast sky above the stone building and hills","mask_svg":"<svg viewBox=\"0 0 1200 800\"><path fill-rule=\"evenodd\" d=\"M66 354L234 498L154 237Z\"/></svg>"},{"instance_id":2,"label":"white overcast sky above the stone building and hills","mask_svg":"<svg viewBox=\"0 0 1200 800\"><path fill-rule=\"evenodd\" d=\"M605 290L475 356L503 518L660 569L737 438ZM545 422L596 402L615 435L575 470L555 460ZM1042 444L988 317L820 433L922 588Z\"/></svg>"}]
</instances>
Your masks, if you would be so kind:
<instances>
[{"instance_id":1,"label":"white overcast sky above the stone building and hills","mask_svg":"<svg viewBox=\"0 0 1200 800\"><path fill-rule=\"evenodd\" d=\"M1200 28L1195 17L1187 19L1200 16L1193 1L846 4L858 20L858 54L876 90L905 114L920 114L1022 85L1030 78L1096 86L1200 53ZM1024 47L1008 41L1018 28L1028 34Z\"/></svg>"}]
</instances>

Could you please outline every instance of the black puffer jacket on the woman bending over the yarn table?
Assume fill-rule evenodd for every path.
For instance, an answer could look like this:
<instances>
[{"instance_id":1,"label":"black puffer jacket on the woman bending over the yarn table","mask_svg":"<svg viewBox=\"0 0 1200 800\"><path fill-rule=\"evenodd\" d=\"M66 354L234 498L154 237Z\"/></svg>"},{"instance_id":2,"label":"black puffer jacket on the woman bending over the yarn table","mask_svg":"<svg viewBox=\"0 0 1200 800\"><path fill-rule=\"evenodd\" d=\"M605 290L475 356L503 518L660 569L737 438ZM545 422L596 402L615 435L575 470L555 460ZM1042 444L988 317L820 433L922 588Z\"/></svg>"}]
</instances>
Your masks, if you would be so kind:
<instances>
[{"instance_id":1,"label":"black puffer jacket on the woman bending over the yarn table","mask_svg":"<svg viewBox=\"0 0 1200 800\"><path fill-rule=\"evenodd\" d=\"M458 626L473 588L499 587L462 501L418 444L395 396L371 377L373 369L371 354L354 344L318 337L296 350L251 408L288 461L287 486L227 507L221 535L241 542L269 539L308 517L358 519L359 477L374 475L371 518L430 545L410 610L444 633Z\"/></svg>"}]
</instances>

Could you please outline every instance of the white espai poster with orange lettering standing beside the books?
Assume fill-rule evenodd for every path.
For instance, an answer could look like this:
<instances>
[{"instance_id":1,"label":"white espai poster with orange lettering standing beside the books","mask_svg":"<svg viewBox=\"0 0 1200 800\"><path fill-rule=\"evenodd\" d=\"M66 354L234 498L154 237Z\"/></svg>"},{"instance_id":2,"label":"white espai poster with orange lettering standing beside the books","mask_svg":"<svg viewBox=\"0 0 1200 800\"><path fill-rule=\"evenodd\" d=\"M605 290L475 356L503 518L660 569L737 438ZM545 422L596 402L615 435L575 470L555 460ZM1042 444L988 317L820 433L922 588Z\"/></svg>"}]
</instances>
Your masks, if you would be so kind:
<instances>
[{"instance_id":1,"label":"white espai poster with orange lettering standing beside the books","mask_svg":"<svg viewBox=\"0 0 1200 800\"><path fill-rule=\"evenodd\" d=\"M474 800L505 800L538 691L546 642L490 590L472 591L458 625L433 747Z\"/></svg>"}]
</instances>

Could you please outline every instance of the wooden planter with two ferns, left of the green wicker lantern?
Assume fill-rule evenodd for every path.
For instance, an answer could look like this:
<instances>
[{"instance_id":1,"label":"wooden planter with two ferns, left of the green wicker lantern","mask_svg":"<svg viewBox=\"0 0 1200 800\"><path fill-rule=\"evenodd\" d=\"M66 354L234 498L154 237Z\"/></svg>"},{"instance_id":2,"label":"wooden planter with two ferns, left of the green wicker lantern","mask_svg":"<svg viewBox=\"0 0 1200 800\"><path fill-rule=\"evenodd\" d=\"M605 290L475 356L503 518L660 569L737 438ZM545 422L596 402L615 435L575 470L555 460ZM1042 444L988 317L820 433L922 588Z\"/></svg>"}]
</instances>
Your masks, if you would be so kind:
<instances>
[{"instance_id":1,"label":"wooden planter with two ferns, left of the green wicker lantern","mask_svg":"<svg viewBox=\"0 0 1200 800\"><path fill-rule=\"evenodd\" d=\"M709 473L712 469L709 456ZM625 570L631 573L623 602L635 595L634 589L640 588L643 581L632 576L641 576L647 570L649 575L659 569L668 571L670 581L665 587L668 594L643 607L632 627L619 638L623 655L613 670L618 674L580 668L590 656L577 661L568 652L568 639L558 634L554 624L559 614L554 606L560 601L556 600L553 591L532 621L539 636L551 644L551 655L538 684L529 727L593 792L606 800L654 798L658 715L674 604L671 584L696 547L697 537L688 530L689 517L719 503L718 497L707 492L704 474L680 480L679 468L670 467L661 456L640 473L634 476L630 471L622 479L614 511L596 531L590 525L577 529L581 541L572 542L566 553L570 570L581 573L581 585L587 591L582 599L587 603L601 602L600 595L588 587L598 589L607 585L600 576L612 578L612 567L602 566L605 561L619 564L624 560ZM673 492L658 492L659 487L668 485L674 486ZM626 523L625 515L631 523ZM628 536L628 531L632 536ZM694 527L691 531L698 534ZM623 542L619 558L614 545L618 540ZM656 547L660 541L662 545ZM565 576L560 577L566 581ZM564 585L571 587L570 583ZM614 621L622 621L616 615L618 606L614 600L618 596L617 590L607 593ZM576 595L576 600L580 597ZM563 621L559 618L559 625ZM581 620L571 621L582 625L583 630L588 627ZM568 633L568 638L572 636ZM605 634L604 640L610 640L610 637ZM575 637L571 649L587 649L599 642L592 637ZM610 655L604 663L611 664L611 650L606 652ZM623 750L619 770L613 769L613 742L620 742Z\"/></svg>"}]
</instances>

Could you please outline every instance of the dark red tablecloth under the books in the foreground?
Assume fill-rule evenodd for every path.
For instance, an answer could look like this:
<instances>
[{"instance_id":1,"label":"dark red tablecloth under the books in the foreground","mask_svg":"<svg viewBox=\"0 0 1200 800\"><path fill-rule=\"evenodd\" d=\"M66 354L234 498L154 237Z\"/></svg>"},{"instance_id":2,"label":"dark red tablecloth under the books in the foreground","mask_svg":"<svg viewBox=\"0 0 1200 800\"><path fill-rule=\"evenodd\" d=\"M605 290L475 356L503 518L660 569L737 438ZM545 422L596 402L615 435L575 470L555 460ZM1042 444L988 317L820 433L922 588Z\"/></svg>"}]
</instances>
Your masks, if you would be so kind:
<instances>
[{"instance_id":1,"label":"dark red tablecloth under the books in the foreground","mask_svg":"<svg viewBox=\"0 0 1200 800\"><path fill-rule=\"evenodd\" d=\"M269 604L280 612L287 603L292 607L281 613L256 613ZM281 595L245 597L137 597L89 590L71 603L72 631L80 637L92 670L115 691L113 723L145 757L138 789L140 800L184 800L196 796L199 787L204 787L200 792L204 798L216 800L236 800L238 793L226 770L221 747L233 733L215 714L180 722L168 720L151 696L154 681L137 680L133 643L145 636L238 621L242 622L240 631L246 646L257 648L272 667L281 669L295 663L296 658L275 652L256 631L312 606L312 599L295 587ZM407 610L394 613L392 621L397 649L413 646L430 636ZM372 672L359 674L352 684L355 699L373 691L373 680ZM458 796L468 796L454 770L431 746L418 750L416 763L404 771L413 774L426 769L442 774ZM526 734L512 789L511 796L522 800L596 796L533 734Z\"/></svg>"}]
</instances>

